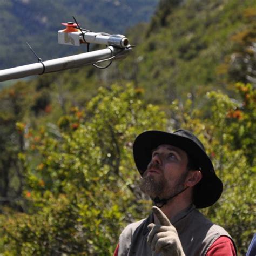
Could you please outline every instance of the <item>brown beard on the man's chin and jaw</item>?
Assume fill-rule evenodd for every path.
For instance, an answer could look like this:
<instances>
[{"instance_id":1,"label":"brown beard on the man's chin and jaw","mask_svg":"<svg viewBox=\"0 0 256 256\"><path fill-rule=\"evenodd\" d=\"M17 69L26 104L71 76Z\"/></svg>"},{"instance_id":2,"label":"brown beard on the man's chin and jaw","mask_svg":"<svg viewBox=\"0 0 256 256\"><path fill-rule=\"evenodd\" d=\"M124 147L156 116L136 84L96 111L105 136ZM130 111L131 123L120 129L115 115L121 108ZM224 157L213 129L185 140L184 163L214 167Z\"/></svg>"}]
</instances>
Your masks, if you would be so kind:
<instances>
[{"instance_id":1,"label":"brown beard on the man's chin and jaw","mask_svg":"<svg viewBox=\"0 0 256 256\"><path fill-rule=\"evenodd\" d=\"M160 170L158 168L158 170ZM163 173L162 170L160 170ZM188 172L183 173L172 187L167 183L164 175L159 176L146 175L146 171L143 173L142 179L140 180L140 190L147 194L152 200L156 197L159 198L169 198L179 193L184 189L184 182L187 177Z\"/></svg>"}]
</instances>

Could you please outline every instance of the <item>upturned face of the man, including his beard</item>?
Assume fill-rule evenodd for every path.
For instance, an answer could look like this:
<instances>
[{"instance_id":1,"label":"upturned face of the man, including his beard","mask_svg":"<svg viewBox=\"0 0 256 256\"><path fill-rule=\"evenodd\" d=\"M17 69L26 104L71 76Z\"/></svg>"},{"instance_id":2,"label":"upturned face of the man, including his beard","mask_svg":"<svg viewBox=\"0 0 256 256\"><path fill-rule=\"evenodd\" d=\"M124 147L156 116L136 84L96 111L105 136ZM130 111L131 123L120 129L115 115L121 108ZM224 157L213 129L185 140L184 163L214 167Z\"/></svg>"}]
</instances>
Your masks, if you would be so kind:
<instances>
[{"instance_id":1,"label":"upturned face of the man, including his beard","mask_svg":"<svg viewBox=\"0 0 256 256\"><path fill-rule=\"evenodd\" d=\"M160 145L143 173L140 189L152 199L171 197L183 190L188 174L187 153L178 147Z\"/></svg>"}]
</instances>

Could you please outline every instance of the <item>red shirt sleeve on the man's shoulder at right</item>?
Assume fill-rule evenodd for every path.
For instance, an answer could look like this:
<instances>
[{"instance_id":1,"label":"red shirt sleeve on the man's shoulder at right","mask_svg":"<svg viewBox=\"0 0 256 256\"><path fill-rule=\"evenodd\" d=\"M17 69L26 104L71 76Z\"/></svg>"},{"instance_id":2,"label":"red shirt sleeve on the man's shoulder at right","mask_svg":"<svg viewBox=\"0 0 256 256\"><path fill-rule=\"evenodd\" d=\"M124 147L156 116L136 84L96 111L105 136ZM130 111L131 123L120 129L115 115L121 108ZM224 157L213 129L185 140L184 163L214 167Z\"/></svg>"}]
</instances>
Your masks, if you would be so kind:
<instances>
[{"instance_id":1,"label":"red shirt sleeve on the man's shoulder at right","mask_svg":"<svg viewBox=\"0 0 256 256\"><path fill-rule=\"evenodd\" d=\"M236 256L235 247L230 238L219 237L208 249L206 256Z\"/></svg>"}]
</instances>

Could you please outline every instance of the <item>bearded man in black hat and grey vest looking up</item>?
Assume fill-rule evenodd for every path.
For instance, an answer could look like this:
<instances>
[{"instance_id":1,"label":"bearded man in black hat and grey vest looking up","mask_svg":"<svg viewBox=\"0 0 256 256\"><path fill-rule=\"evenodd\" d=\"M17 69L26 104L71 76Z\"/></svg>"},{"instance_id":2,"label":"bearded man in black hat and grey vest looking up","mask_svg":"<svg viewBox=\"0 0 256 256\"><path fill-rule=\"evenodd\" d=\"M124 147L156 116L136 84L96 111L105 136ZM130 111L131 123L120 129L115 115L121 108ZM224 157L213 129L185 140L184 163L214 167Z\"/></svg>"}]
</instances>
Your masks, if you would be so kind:
<instances>
[{"instance_id":1,"label":"bearded man in black hat and grey vest looking up","mask_svg":"<svg viewBox=\"0 0 256 256\"><path fill-rule=\"evenodd\" d=\"M196 208L213 205L223 191L203 144L189 131L146 131L133 145L140 188L156 206L128 225L114 255L237 255L224 228Z\"/></svg>"}]
</instances>

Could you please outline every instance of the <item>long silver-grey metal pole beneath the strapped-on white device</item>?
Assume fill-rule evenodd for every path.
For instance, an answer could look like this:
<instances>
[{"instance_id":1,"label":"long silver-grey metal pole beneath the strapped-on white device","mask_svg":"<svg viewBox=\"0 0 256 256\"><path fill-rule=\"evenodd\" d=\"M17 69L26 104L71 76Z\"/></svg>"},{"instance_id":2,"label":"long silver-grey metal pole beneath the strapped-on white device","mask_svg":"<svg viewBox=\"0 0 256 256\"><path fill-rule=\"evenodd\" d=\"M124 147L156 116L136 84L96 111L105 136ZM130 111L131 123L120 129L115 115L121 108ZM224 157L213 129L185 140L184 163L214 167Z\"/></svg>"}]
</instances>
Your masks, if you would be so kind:
<instances>
[{"instance_id":1,"label":"long silver-grey metal pole beneath the strapped-on white device","mask_svg":"<svg viewBox=\"0 0 256 256\"><path fill-rule=\"evenodd\" d=\"M38 62L24 66L18 66L16 68L0 70L0 82L33 75L43 75L44 73L65 69L78 68L79 66L89 65L108 59L119 59L125 57L126 54L131 50L131 47L129 46L125 49L109 46L103 50L91 51L78 55L46 60L45 62Z\"/></svg>"}]
</instances>

